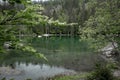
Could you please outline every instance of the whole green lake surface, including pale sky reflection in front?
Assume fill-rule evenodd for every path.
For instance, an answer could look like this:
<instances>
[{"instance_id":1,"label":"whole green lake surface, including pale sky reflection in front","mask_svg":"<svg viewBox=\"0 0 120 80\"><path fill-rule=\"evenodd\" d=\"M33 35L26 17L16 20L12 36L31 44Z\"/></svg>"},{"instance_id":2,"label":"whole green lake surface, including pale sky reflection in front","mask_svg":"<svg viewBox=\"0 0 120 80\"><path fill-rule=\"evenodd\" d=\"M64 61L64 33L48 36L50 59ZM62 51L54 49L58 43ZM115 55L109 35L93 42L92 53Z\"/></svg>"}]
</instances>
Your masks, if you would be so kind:
<instances>
[{"instance_id":1,"label":"whole green lake surface, including pale sky reflection in front","mask_svg":"<svg viewBox=\"0 0 120 80\"><path fill-rule=\"evenodd\" d=\"M57 74L90 71L93 64L100 60L88 47L89 42L80 41L77 37L42 37L28 42L43 53L48 62L22 51L11 51L10 55L0 59L0 79L44 80Z\"/></svg>"}]
</instances>

